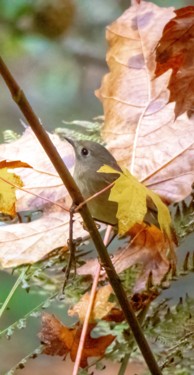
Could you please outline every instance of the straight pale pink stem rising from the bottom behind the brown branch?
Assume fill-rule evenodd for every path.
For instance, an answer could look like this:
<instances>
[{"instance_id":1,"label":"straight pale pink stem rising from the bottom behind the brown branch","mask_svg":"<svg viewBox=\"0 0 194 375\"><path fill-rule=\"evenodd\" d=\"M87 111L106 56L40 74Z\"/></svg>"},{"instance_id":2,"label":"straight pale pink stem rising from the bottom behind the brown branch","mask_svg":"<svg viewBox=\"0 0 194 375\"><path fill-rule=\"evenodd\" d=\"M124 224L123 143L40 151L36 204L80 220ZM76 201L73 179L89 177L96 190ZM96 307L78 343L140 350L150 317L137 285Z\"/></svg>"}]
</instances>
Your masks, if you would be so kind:
<instances>
[{"instance_id":1,"label":"straight pale pink stem rising from the bottom behind the brown branch","mask_svg":"<svg viewBox=\"0 0 194 375\"><path fill-rule=\"evenodd\" d=\"M105 234L105 237L104 237L104 245L105 246L108 242L111 230L112 230L112 226L108 225L107 228L106 228L106 234ZM92 289L91 289L91 293L90 293L90 301L89 301L89 304L88 304L88 309L87 309L87 313L86 313L86 316L85 316L84 325L83 325L83 328L82 328L82 333L81 333L81 337L80 337L80 341L79 341L79 347L78 347L78 351L77 351L75 365L74 365L72 375L77 375L78 370L79 370L79 365L80 365L80 361L81 361L81 357L82 357L82 351L83 351L83 348L84 348L85 336L87 334L90 314L91 314L91 311L92 311L92 308L93 308L93 305L94 305L94 299L95 299L95 296L96 296L96 288L97 288L97 285L98 285L99 276L100 276L100 264L98 263L96 275L94 277L94 281L93 281L93 285L92 285Z\"/></svg>"}]
</instances>

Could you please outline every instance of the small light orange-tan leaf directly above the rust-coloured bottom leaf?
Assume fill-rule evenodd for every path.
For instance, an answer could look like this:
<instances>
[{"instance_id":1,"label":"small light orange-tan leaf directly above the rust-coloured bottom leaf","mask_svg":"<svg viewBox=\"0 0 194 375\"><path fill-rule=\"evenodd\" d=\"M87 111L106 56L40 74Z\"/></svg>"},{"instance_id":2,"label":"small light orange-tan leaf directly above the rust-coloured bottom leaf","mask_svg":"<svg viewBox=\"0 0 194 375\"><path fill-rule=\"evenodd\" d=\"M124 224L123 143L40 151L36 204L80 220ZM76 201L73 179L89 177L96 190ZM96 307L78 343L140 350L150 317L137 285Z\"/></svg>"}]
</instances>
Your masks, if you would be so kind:
<instances>
[{"instance_id":1,"label":"small light orange-tan leaf directly above the rust-coloured bottom leaf","mask_svg":"<svg viewBox=\"0 0 194 375\"><path fill-rule=\"evenodd\" d=\"M90 323L93 323L96 319L104 317L104 315L108 314L113 306L115 306L115 303L108 302L110 293L112 293L112 287L110 284L101 287L97 291L93 309L90 314ZM69 309L68 314L72 316L77 313L79 315L80 323L84 323L89 301L90 294L85 293L77 305L73 306L73 309Z\"/></svg>"}]
</instances>

